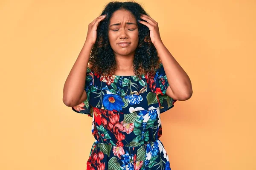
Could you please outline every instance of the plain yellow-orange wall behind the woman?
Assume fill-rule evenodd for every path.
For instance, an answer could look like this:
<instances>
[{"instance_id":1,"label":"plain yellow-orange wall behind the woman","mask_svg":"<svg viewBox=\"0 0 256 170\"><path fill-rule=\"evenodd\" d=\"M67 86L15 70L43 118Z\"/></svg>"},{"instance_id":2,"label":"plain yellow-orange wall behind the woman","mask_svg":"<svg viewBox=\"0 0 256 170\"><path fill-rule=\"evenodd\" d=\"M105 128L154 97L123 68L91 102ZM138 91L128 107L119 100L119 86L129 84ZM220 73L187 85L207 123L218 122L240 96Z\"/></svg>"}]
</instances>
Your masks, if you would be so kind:
<instances>
[{"instance_id":1,"label":"plain yellow-orange wall behind the woman","mask_svg":"<svg viewBox=\"0 0 256 170\"><path fill-rule=\"evenodd\" d=\"M107 0L1 0L1 170L85 170L92 118L63 86ZM256 169L256 2L139 0L192 81L161 114L172 170Z\"/></svg>"}]
</instances>

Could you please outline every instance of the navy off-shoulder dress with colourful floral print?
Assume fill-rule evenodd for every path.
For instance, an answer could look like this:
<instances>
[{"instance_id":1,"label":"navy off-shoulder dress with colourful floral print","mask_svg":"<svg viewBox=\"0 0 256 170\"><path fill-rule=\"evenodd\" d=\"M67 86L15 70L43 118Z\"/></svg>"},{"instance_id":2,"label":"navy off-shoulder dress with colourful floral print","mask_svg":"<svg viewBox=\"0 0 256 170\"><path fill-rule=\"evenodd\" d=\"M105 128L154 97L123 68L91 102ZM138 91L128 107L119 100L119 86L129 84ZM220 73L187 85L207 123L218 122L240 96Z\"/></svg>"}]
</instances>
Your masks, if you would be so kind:
<instances>
[{"instance_id":1,"label":"navy off-shoulder dress with colourful floral print","mask_svg":"<svg viewBox=\"0 0 256 170\"><path fill-rule=\"evenodd\" d=\"M176 100L160 63L154 77L100 76L87 68L87 100L72 107L92 117L93 143L87 170L171 170L159 140L160 113Z\"/></svg>"}]
</instances>

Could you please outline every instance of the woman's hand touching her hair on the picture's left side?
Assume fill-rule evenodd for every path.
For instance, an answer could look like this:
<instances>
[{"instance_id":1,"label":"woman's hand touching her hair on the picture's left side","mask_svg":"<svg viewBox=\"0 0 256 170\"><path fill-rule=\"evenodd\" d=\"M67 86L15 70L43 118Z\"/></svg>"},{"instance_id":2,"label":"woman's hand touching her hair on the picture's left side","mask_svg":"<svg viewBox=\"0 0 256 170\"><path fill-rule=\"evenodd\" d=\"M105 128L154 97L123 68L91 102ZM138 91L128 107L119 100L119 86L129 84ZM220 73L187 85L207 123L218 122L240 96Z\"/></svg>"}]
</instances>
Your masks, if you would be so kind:
<instances>
[{"instance_id":1,"label":"woman's hand touching her hair on the picture's left side","mask_svg":"<svg viewBox=\"0 0 256 170\"><path fill-rule=\"evenodd\" d=\"M86 36L85 42L95 44L96 38L97 38L97 28L99 26L99 22L104 20L105 18L106 18L106 14L101 15L101 16L97 17L95 20L93 20L93 22L91 22L88 25L88 31L87 31L87 36Z\"/></svg>"}]
</instances>

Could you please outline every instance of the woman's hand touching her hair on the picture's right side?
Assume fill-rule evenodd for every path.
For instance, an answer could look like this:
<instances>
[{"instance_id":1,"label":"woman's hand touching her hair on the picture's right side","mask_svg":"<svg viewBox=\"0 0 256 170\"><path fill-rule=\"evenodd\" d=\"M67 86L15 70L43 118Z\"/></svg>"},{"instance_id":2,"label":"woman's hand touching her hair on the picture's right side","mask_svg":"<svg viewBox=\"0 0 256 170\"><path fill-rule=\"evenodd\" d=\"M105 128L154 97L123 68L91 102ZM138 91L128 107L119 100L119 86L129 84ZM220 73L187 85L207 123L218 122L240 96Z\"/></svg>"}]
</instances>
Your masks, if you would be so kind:
<instances>
[{"instance_id":1,"label":"woman's hand touching her hair on the picture's right side","mask_svg":"<svg viewBox=\"0 0 256 170\"><path fill-rule=\"evenodd\" d=\"M140 23L144 24L147 26L150 30L150 38L151 42L154 44L155 42L162 42L161 37L160 37L160 32L158 28L158 23L153 20L151 17L145 14L141 14L140 16L143 20L147 21L139 21Z\"/></svg>"}]
</instances>

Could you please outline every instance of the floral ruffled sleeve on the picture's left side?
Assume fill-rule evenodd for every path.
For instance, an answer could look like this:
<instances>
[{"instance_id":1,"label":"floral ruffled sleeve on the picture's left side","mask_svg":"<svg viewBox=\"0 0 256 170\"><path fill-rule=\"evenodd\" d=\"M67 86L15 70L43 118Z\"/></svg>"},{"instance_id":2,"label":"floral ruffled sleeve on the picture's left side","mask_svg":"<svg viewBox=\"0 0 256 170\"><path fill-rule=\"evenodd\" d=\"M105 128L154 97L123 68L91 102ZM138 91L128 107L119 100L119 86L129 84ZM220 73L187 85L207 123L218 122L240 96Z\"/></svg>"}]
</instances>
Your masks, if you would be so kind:
<instances>
[{"instance_id":1,"label":"floral ruffled sleeve on the picture's left side","mask_svg":"<svg viewBox=\"0 0 256 170\"><path fill-rule=\"evenodd\" d=\"M75 111L76 113L87 114L88 116L93 117L93 111L91 110L92 107L90 106L90 91L91 91L90 89L93 85L94 85L93 72L90 70L90 68L87 68L85 85L84 85L84 90L86 91L87 99L81 104L72 107L73 111Z\"/></svg>"}]
</instances>

